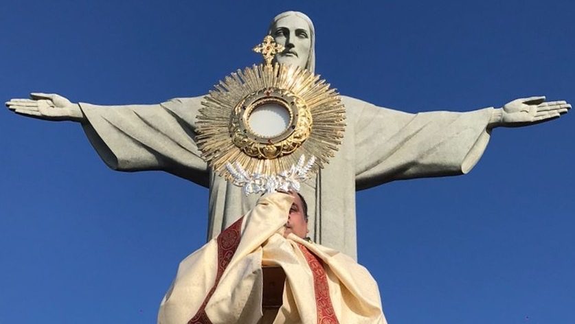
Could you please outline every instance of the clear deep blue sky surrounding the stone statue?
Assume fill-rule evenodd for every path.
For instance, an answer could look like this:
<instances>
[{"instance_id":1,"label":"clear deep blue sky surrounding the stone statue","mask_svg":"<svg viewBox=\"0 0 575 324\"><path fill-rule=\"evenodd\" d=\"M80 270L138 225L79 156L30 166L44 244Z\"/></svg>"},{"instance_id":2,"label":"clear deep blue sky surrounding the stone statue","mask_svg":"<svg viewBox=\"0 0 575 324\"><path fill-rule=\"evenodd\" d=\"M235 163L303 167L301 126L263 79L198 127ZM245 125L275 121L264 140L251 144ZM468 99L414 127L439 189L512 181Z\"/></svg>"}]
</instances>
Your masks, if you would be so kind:
<instances>
[{"instance_id":1,"label":"clear deep blue sky surrounding the stone statue","mask_svg":"<svg viewBox=\"0 0 575 324\"><path fill-rule=\"evenodd\" d=\"M285 1L288 2L288 1ZM317 73L403 111L575 102L572 1L3 1L0 97L156 103L253 62L284 10ZM357 195L359 262L392 324L575 323L575 116L496 129L471 174ZM0 324L155 323L205 242L207 190L109 170L78 126L0 111Z\"/></svg>"}]
</instances>

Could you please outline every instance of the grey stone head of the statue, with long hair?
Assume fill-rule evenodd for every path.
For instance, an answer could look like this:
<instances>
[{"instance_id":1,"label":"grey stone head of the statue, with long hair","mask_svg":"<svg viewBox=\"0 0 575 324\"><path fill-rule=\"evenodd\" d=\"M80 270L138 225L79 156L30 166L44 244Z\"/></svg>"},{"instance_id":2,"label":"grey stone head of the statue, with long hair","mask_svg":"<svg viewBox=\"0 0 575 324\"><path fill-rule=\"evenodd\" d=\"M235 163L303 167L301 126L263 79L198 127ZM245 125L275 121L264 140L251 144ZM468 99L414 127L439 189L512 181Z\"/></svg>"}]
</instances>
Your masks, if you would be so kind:
<instances>
[{"instance_id":1,"label":"grey stone head of the statue, with long hair","mask_svg":"<svg viewBox=\"0 0 575 324\"><path fill-rule=\"evenodd\" d=\"M315 72L315 29L308 16L297 11L282 12L271 21L268 34L285 47L275 55L275 62Z\"/></svg>"}]
</instances>

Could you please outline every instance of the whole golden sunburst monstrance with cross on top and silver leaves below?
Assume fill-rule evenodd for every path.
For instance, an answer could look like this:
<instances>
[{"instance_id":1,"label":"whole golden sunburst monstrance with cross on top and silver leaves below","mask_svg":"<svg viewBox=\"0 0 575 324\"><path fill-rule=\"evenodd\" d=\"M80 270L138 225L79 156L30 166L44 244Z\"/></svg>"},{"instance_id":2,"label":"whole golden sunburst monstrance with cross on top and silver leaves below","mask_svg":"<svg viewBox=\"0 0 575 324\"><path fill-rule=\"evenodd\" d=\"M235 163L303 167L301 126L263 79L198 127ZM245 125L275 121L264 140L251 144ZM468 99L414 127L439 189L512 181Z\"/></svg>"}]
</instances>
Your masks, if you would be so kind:
<instances>
[{"instance_id":1,"label":"whole golden sunburst monstrance with cross on top and silver leaves below","mask_svg":"<svg viewBox=\"0 0 575 324\"><path fill-rule=\"evenodd\" d=\"M253 50L265 63L232 73L204 97L198 147L208 165L245 194L298 191L341 144L345 108L326 80L300 67L272 65L284 50L273 37Z\"/></svg>"}]
</instances>

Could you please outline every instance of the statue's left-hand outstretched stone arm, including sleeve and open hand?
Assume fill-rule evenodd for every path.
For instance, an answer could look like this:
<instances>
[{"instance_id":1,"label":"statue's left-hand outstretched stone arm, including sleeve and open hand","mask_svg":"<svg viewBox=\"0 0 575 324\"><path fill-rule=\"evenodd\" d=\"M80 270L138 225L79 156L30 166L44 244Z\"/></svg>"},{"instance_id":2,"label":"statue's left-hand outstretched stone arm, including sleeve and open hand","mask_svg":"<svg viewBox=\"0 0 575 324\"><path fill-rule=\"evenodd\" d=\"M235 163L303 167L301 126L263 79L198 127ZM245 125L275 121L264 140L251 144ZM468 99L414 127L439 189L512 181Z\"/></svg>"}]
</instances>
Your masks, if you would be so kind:
<instances>
[{"instance_id":1,"label":"statue's left-hand outstretched stone arm, including sleeve and open hand","mask_svg":"<svg viewBox=\"0 0 575 324\"><path fill-rule=\"evenodd\" d=\"M5 105L19 115L79 122L113 170L162 170L207 187L209 171L195 137L201 97L161 104L98 106L72 103L54 93L31 93Z\"/></svg>"}]
</instances>

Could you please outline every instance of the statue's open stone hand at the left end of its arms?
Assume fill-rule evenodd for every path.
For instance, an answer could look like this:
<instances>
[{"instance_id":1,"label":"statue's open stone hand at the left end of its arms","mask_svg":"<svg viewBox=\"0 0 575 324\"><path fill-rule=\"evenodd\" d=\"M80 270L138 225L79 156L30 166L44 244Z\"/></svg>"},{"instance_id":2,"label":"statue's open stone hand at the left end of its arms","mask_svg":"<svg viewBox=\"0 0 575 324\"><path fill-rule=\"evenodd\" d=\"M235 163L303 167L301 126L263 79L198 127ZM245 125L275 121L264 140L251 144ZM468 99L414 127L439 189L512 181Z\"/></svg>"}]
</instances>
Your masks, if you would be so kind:
<instances>
[{"instance_id":1,"label":"statue's open stone hand at the left end of its arms","mask_svg":"<svg viewBox=\"0 0 575 324\"><path fill-rule=\"evenodd\" d=\"M31 99L12 99L6 102L10 111L43 120L83 122L85 117L78 104L55 93L30 93Z\"/></svg>"}]
</instances>

